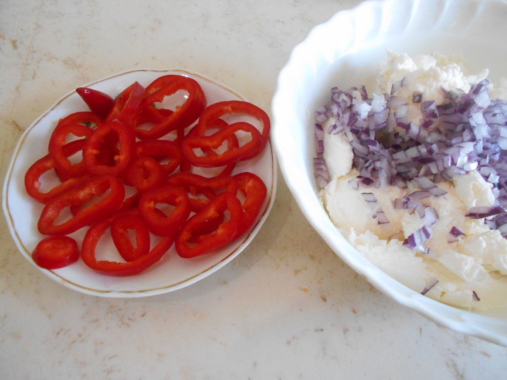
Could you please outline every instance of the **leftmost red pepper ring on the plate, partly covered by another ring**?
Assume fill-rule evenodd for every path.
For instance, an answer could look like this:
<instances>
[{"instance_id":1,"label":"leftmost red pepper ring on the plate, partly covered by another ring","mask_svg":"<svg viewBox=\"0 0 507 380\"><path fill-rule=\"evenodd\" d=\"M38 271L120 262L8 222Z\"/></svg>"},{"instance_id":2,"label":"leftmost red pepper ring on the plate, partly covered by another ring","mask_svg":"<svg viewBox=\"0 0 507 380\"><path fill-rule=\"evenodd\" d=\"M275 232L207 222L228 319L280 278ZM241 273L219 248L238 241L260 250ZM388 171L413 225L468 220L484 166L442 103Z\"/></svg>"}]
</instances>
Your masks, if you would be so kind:
<instances>
[{"instance_id":1,"label":"leftmost red pepper ring on the plate, partly covered by another ring","mask_svg":"<svg viewBox=\"0 0 507 380\"><path fill-rule=\"evenodd\" d=\"M83 148L84 141L76 140L71 141L68 144L64 145L62 147L63 154L65 156L71 156L77 153L79 150ZM67 179L64 182L61 182L51 188L48 192L42 193L41 192L41 177L43 174L49 172L50 170L55 169L55 161L53 158L48 154L44 156L43 158L35 161L26 171L25 173L25 189L26 193L32 197L33 199L41 202L41 203L47 203L51 198L56 196L57 194L60 194L67 189L82 183L86 181L87 176L82 176L78 178L70 178Z\"/></svg>"}]
</instances>

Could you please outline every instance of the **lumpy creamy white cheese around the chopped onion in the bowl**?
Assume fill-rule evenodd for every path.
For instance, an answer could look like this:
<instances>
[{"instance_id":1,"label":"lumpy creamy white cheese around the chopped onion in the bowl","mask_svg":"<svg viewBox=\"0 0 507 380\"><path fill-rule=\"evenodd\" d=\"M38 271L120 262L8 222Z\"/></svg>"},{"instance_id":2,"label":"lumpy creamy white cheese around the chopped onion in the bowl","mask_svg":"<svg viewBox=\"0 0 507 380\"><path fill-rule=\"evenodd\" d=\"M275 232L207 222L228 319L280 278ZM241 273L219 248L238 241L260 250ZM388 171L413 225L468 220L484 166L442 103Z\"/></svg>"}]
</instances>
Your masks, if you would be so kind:
<instances>
[{"instance_id":1,"label":"lumpy creamy white cheese around the chopped onion in the bowl","mask_svg":"<svg viewBox=\"0 0 507 380\"><path fill-rule=\"evenodd\" d=\"M388 51L388 60L380 65L378 90L388 93L393 83L405 78L405 86L396 95L411 100L416 92L422 94L423 100L441 104L442 87L466 92L471 83L482 81L488 74L487 70L477 75L464 72L456 57L412 59ZM335 122L333 118L325 122L324 131ZM470 208L489 207L495 202L492 185L477 171L439 183L447 194L420 201L438 214L436 224L431 226L431 237L425 242L428 252L422 253L403 245L403 241L423 226L423 220L416 213L393 207L396 198L415 191L416 185L409 183L408 189L368 187L367 191L377 199L377 210L380 207L389 220L379 224L373 218L375 210L361 191L349 184L358 172L352 166L353 151L346 134L325 133L323 143L330 175L329 184L320 193L323 206L361 254L397 281L417 292L427 291L427 296L449 305L479 310L507 305L507 241L498 231L490 230L484 219L465 217ZM464 235L450 242L453 227Z\"/></svg>"}]
</instances>

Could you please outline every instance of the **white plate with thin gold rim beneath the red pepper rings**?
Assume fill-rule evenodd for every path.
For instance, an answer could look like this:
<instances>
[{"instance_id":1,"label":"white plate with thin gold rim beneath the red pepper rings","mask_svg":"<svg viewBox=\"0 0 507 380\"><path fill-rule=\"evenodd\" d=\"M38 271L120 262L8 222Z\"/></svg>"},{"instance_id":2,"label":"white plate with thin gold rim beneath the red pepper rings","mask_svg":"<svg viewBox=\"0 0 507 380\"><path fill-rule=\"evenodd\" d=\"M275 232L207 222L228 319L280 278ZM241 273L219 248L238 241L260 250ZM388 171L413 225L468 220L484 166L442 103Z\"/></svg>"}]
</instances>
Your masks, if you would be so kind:
<instances>
[{"instance_id":1,"label":"white plate with thin gold rim beneath the red pepper rings","mask_svg":"<svg viewBox=\"0 0 507 380\"><path fill-rule=\"evenodd\" d=\"M198 81L206 94L208 104L223 100L245 100L237 92L224 85L182 69L169 71L130 70L85 86L115 97L135 81L147 86L154 79L165 74L186 75ZM47 143L55 123L70 112L78 110L87 110L87 106L74 91L53 104L23 133L7 172L4 183L4 213L18 249L32 263L31 252L43 238L37 230L37 221L43 206L26 195L23 182L24 173L33 162L47 154ZM66 268L53 271L41 269L35 263L33 264L60 284L83 293L104 297L140 297L183 288L222 268L236 257L259 232L275 198L276 165L276 157L271 143L268 142L266 149L259 157L236 166L233 174L251 171L259 175L266 183L268 195L252 228L224 249L201 257L183 259L176 254L174 247L172 247L163 259L153 267L139 275L130 277L110 277L98 274L89 269L81 260ZM84 232L75 233L75 236L80 240L84 236Z\"/></svg>"}]
</instances>

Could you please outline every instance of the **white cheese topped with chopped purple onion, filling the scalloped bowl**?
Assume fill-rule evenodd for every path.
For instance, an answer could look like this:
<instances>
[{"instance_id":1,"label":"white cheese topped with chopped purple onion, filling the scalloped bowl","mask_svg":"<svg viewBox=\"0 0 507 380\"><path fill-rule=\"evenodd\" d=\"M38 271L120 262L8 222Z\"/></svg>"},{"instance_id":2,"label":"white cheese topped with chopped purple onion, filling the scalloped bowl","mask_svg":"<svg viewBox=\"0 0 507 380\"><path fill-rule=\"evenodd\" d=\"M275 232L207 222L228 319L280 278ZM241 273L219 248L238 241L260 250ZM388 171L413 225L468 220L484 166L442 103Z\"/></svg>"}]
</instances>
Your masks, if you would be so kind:
<instances>
[{"instance_id":1,"label":"white cheese topped with chopped purple onion, filling the scalloped bowl","mask_svg":"<svg viewBox=\"0 0 507 380\"><path fill-rule=\"evenodd\" d=\"M395 280L463 309L504 307L504 96L457 56L387 56L371 97L334 88L315 113L322 204Z\"/></svg>"}]
</instances>

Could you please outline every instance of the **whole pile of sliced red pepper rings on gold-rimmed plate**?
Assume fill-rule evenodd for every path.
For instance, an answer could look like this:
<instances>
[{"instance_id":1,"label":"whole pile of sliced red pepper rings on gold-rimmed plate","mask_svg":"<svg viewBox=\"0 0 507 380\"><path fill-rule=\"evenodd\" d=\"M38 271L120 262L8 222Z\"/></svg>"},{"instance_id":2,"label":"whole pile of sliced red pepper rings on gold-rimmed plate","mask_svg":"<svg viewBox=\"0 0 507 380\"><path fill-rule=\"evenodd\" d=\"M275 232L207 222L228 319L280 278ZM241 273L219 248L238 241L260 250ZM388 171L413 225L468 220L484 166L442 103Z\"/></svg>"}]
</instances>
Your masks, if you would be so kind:
<instances>
[{"instance_id":1,"label":"whole pile of sliced red pepper rings on gold-rimmed plate","mask_svg":"<svg viewBox=\"0 0 507 380\"><path fill-rule=\"evenodd\" d=\"M174 110L155 106L180 90L188 98ZM198 82L182 75L164 75L146 88L136 82L115 99L89 88L76 91L90 111L61 119L48 154L25 174L27 194L45 205L38 229L48 237L32 253L38 265L61 268L81 256L99 273L130 276L159 261L173 244L181 257L203 255L255 222L266 185L253 173L231 172L268 142L270 121L262 109L236 100L207 105ZM262 127L222 119L236 114L251 116ZM239 131L249 135L242 145ZM82 160L74 162L80 152ZM224 169L205 177L193 167ZM51 170L60 182L42 192L41 177ZM125 186L135 189L132 195ZM79 249L68 235L84 227ZM97 244L107 231L123 260L97 258Z\"/></svg>"}]
</instances>

